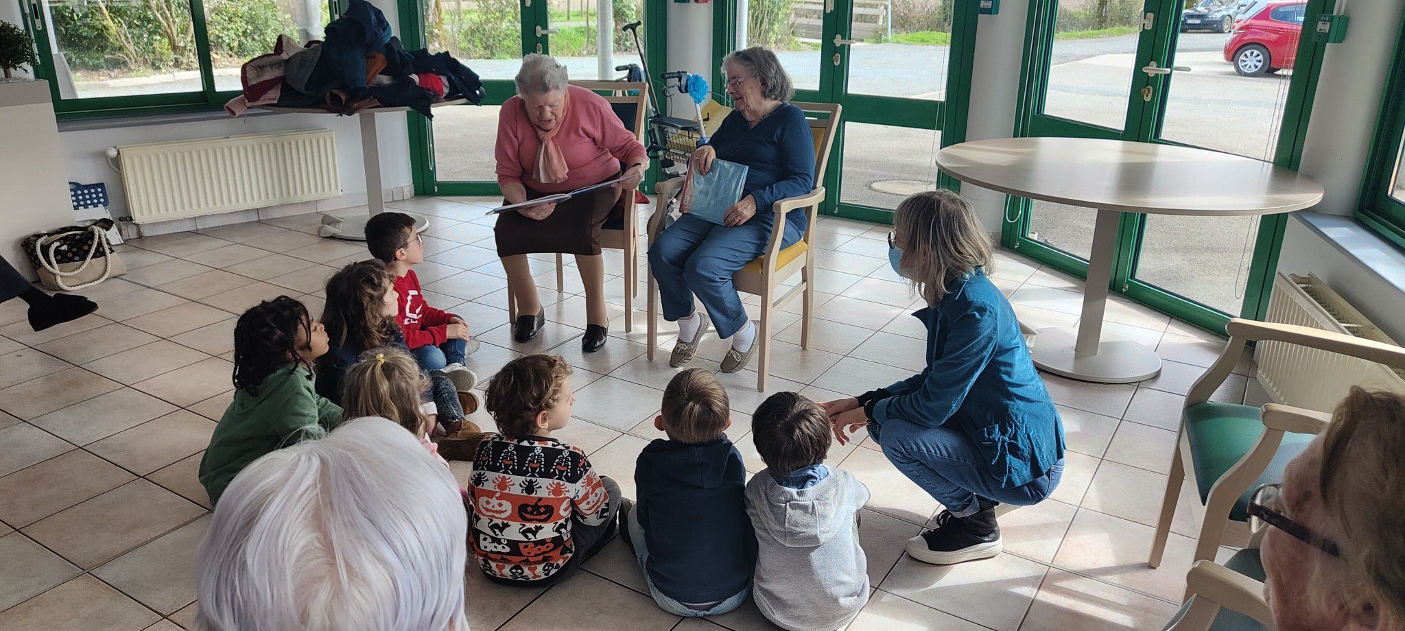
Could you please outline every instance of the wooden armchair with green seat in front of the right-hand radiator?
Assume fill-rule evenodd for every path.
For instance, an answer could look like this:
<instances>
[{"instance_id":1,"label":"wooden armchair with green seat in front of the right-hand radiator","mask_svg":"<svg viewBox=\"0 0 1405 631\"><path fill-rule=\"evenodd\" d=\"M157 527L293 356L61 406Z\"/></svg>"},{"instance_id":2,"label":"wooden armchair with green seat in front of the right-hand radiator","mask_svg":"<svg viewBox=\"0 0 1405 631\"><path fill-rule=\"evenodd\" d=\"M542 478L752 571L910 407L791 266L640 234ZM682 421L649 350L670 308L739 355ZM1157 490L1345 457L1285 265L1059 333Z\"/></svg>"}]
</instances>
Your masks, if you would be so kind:
<instances>
[{"instance_id":1,"label":"wooden armchair with green seat in front of the right-hand radiator","mask_svg":"<svg viewBox=\"0 0 1405 631\"><path fill-rule=\"evenodd\" d=\"M1405 349L1361 337L1297 325L1235 318L1225 326L1229 341L1215 364L1186 395L1176 436L1176 455L1146 565L1161 565L1186 462L1205 506L1194 561L1214 559L1229 521L1248 521L1249 495L1259 485L1283 479L1283 468L1312 441L1328 415L1281 405L1260 410L1246 405L1211 402L1239 363L1249 341L1286 343L1405 368ZM1345 393L1343 393L1345 395Z\"/></svg>"}]
</instances>

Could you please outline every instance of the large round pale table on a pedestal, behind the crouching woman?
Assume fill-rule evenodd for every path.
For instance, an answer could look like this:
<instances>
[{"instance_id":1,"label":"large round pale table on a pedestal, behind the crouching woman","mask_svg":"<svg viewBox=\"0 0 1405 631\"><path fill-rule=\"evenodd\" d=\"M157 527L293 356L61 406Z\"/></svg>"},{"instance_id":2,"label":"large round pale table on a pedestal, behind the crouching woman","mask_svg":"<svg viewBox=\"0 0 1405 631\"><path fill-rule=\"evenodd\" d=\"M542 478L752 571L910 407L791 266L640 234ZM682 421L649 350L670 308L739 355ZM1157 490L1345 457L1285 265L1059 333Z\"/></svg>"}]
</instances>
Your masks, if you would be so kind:
<instances>
[{"instance_id":1,"label":"large round pale table on a pedestal, behind the crouching woman","mask_svg":"<svg viewBox=\"0 0 1405 631\"><path fill-rule=\"evenodd\" d=\"M1103 336L1120 214L1272 215L1322 200L1322 186L1315 180L1263 160L1145 142L972 141L937 152L937 167L995 191L1099 211L1079 326L1040 330L1030 351L1040 368L1104 384L1142 381L1161 372L1161 357L1152 349Z\"/></svg>"}]
</instances>

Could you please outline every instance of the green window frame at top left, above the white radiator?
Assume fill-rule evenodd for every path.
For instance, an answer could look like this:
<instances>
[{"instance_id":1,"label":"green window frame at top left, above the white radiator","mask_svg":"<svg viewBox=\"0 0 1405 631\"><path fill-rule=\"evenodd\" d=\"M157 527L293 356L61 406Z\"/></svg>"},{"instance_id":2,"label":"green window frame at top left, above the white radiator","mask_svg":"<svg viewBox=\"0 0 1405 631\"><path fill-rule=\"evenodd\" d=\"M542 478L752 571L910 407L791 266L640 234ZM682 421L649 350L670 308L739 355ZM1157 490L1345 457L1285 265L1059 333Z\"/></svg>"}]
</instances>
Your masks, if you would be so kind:
<instances>
[{"instance_id":1,"label":"green window frame at top left, above the white radiator","mask_svg":"<svg viewBox=\"0 0 1405 631\"><path fill-rule=\"evenodd\" d=\"M37 24L44 22L44 0L18 0L20 15L24 30L34 39L35 55L39 63L34 67L34 76L49 82L49 94L53 100L53 112L60 121L83 118L115 118L156 114L177 114L192 111L218 111L225 103L240 94L240 90L218 90L215 87L215 70L211 59L209 32L205 20L204 0L187 0L192 22L195 44L195 62L200 69L200 90L166 94L125 94L111 97L77 97L65 98L59 90L58 70L53 56L52 28ZM346 0L327 0L330 15L334 20L340 15ZM270 42L270 51L271 52Z\"/></svg>"}]
</instances>

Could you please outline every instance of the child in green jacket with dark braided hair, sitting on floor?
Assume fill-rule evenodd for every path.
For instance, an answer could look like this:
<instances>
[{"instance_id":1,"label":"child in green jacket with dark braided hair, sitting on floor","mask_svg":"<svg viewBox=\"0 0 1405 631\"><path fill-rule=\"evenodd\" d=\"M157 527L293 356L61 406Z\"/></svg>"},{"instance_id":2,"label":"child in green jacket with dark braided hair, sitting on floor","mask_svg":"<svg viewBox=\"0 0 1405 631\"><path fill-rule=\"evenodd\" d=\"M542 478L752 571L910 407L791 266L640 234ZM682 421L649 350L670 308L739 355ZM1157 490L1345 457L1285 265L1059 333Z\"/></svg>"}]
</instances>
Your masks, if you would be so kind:
<instances>
[{"instance_id":1,"label":"child in green jacket with dark braided hair, sitting on floor","mask_svg":"<svg viewBox=\"0 0 1405 631\"><path fill-rule=\"evenodd\" d=\"M235 401L200 461L200 483L211 505L250 462L320 438L341 417L341 408L313 391L312 363L326 351L326 330L296 299L281 295L239 316Z\"/></svg>"}]
</instances>

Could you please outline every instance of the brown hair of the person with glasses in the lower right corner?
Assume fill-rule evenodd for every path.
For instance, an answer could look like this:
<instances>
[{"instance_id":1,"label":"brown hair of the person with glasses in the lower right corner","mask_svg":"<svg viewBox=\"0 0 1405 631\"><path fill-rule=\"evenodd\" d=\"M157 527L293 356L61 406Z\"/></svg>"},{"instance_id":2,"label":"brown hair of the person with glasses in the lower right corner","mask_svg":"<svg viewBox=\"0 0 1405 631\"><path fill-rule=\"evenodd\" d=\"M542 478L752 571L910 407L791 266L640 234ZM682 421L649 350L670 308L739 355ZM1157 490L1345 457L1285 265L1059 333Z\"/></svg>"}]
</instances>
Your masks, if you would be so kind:
<instances>
[{"instance_id":1,"label":"brown hair of the person with glasses in the lower right corner","mask_svg":"<svg viewBox=\"0 0 1405 631\"><path fill-rule=\"evenodd\" d=\"M1353 582L1346 599L1368 600L1385 620L1405 623L1405 396L1352 391L1322 436L1319 489L1342 526L1342 558ZM1360 607L1363 603L1343 603Z\"/></svg>"}]
</instances>

